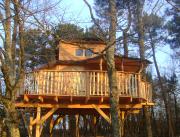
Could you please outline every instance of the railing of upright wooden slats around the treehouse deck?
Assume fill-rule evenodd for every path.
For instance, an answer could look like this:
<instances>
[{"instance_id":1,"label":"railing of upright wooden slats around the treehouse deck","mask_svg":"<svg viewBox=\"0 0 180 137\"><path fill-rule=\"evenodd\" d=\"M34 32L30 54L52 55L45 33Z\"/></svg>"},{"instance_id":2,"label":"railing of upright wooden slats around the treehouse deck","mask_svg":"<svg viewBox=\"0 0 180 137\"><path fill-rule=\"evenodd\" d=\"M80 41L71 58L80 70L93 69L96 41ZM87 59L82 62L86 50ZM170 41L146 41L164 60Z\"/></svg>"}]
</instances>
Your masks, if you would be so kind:
<instances>
[{"instance_id":1,"label":"railing of upright wooden slats around the treehouse deck","mask_svg":"<svg viewBox=\"0 0 180 137\"><path fill-rule=\"evenodd\" d=\"M117 72L119 96L151 101L151 84L138 73ZM26 74L23 93L62 96L108 96L106 71L39 71Z\"/></svg>"}]
</instances>

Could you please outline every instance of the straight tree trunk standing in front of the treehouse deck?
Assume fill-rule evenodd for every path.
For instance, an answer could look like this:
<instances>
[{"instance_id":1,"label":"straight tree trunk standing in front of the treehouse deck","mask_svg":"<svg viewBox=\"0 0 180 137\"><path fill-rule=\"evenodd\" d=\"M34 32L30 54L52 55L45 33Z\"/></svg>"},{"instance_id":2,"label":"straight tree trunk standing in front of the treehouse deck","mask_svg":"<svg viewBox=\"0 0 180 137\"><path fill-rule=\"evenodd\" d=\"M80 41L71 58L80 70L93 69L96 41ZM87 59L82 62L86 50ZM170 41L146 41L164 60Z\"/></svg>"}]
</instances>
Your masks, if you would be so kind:
<instances>
[{"instance_id":1,"label":"straight tree trunk standing in front of the treehouse deck","mask_svg":"<svg viewBox=\"0 0 180 137\"><path fill-rule=\"evenodd\" d=\"M116 46L116 1L109 0L110 9L110 28L109 28L109 42L107 46L109 47L106 52L107 60L107 70L109 78L109 89L110 89L110 113L112 122L112 136L120 137L120 118L118 116L119 112L119 94L117 90L117 78L115 69L115 46Z\"/></svg>"}]
</instances>

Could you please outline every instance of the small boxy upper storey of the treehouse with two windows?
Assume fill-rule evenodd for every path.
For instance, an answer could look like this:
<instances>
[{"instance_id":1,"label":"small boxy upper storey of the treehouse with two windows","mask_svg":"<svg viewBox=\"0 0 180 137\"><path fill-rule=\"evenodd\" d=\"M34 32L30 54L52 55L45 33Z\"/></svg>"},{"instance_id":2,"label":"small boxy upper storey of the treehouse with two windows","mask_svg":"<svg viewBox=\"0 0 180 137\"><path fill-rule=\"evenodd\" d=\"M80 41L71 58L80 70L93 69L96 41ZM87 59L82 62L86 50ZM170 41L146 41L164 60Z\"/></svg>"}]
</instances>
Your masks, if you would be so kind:
<instances>
[{"instance_id":1,"label":"small boxy upper storey of the treehouse with two windows","mask_svg":"<svg viewBox=\"0 0 180 137\"><path fill-rule=\"evenodd\" d=\"M85 60L94 58L105 49L101 40L61 40L58 45L58 60Z\"/></svg>"}]
</instances>

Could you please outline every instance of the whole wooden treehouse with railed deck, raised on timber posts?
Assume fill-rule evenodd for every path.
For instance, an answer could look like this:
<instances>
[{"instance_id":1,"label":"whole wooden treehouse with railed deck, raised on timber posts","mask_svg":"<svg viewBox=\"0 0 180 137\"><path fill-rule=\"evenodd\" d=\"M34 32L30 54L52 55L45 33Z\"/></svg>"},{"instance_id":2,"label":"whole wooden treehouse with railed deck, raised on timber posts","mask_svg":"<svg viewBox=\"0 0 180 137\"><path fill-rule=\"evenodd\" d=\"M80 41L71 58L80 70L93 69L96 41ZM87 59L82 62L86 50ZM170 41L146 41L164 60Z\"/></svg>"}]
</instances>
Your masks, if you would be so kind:
<instances>
[{"instance_id":1,"label":"whole wooden treehouse with railed deck, raised on timber posts","mask_svg":"<svg viewBox=\"0 0 180 137\"><path fill-rule=\"evenodd\" d=\"M98 54L105 48L101 40L61 40L56 61L26 74L16 107L33 108L30 133L36 125L39 137L46 119L58 114L101 115L111 123L106 61ZM151 84L141 74L148 64L148 60L115 55L122 118L127 112L138 113L143 106L153 105ZM54 126L50 127L52 131Z\"/></svg>"}]
</instances>

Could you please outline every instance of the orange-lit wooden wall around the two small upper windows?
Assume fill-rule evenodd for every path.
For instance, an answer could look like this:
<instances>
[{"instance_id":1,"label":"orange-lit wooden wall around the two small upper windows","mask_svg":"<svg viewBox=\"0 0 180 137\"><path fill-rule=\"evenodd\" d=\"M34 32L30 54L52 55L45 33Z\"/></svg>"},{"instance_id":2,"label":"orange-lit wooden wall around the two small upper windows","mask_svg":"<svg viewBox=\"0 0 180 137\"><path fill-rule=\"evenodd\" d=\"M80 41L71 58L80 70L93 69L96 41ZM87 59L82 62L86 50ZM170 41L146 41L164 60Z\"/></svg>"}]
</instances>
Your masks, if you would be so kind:
<instances>
[{"instance_id":1,"label":"orange-lit wooden wall around the two small upper windows","mask_svg":"<svg viewBox=\"0 0 180 137\"><path fill-rule=\"evenodd\" d=\"M94 52L101 52L104 50L104 44L94 44L94 43L86 43L86 44L76 44L76 43L64 43L60 42L59 44L59 60L83 60L87 58L92 58L97 55L93 55L91 57L85 56L76 56L76 49L80 49L84 47L84 49L92 49Z\"/></svg>"}]
</instances>

